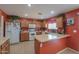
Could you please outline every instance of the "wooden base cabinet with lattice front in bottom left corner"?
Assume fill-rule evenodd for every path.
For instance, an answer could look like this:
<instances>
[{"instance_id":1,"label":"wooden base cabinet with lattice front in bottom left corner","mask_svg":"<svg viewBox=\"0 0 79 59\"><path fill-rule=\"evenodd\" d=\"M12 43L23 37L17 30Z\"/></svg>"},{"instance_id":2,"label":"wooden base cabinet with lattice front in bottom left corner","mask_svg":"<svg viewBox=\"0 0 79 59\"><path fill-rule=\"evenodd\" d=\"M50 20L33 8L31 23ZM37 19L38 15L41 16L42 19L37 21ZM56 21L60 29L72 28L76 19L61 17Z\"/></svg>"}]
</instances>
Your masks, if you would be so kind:
<instances>
[{"instance_id":1,"label":"wooden base cabinet with lattice front in bottom left corner","mask_svg":"<svg viewBox=\"0 0 79 59\"><path fill-rule=\"evenodd\" d=\"M10 43L9 43L9 40L5 41L5 42L0 46L0 53L1 53L1 54L8 54L8 53L10 53Z\"/></svg>"}]
</instances>

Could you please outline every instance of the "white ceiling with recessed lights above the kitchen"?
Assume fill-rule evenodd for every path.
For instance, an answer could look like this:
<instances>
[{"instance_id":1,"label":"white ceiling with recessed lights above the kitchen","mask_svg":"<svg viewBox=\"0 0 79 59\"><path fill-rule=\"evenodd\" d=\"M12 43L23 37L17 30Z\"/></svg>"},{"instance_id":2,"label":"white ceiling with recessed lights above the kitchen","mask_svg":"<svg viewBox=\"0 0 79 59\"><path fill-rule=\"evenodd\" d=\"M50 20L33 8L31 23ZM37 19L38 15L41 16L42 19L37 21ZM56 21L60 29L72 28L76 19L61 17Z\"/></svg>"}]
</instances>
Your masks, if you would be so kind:
<instances>
[{"instance_id":1,"label":"white ceiling with recessed lights above the kitchen","mask_svg":"<svg viewBox=\"0 0 79 59\"><path fill-rule=\"evenodd\" d=\"M53 17L78 7L79 4L32 4L31 7L27 4L0 4L0 9L8 15L36 19ZM54 12L51 14L51 11ZM25 16L25 14L28 16Z\"/></svg>"}]
</instances>

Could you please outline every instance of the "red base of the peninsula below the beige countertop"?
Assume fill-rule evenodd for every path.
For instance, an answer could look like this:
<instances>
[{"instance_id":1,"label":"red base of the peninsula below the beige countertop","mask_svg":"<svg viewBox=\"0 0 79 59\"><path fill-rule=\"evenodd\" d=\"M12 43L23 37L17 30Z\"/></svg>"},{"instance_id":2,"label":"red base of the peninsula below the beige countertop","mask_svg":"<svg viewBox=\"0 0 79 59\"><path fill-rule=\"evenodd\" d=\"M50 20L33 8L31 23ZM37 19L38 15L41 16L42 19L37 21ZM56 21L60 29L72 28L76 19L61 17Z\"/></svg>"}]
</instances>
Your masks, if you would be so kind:
<instances>
[{"instance_id":1,"label":"red base of the peninsula below the beige countertop","mask_svg":"<svg viewBox=\"0 0 79 59\"><path fill-rule=\"evenodd\" d=\"M66 38L49 40L47 42L40 42L35 39L34 44L36 54L56 54L67 47Z\"/></svg>"}]
</instances>

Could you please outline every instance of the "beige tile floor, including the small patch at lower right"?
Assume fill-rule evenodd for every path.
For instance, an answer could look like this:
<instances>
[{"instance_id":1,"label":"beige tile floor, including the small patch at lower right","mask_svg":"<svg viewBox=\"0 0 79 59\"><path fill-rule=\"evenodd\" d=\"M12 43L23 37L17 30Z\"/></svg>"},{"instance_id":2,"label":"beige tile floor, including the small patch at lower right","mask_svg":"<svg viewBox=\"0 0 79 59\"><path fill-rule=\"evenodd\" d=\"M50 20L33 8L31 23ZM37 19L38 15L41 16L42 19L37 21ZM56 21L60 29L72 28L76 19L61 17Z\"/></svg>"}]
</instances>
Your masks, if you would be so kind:
<instances>
[{"instance_id":1,"label":"beige tile floor, including the small patch at lower right","mask_svg":"<svg viewBox=\"0 0 79 59\"><path fill-rule=\"evenodd\" d=\"M34 41L21 42L11 45L10 54L34 54ZM76 54L75 52L66 49L61 54Z\"/></svg>"}]
</instances>

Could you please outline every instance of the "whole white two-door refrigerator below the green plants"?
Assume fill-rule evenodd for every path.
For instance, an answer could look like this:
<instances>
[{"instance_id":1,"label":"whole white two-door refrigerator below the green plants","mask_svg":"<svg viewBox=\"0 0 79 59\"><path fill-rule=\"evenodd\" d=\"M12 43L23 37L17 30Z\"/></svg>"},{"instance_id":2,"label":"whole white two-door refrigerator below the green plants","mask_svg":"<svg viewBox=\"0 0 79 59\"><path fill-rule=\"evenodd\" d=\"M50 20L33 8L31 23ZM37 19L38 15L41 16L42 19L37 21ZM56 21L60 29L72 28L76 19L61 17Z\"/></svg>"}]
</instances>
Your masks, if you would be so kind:
<instances>
[{"instance_id":1,"label":"whole white two-door refrigerator below the green plants","mask_svg":"<svg viewBox=\"0 0 79 59\"><path fill-rule=\"evenodd\" d=\"M10 39L10 44L19 43L20 40L20 23L6 23L6 37Z\"/></svg>"}]
</instances>

